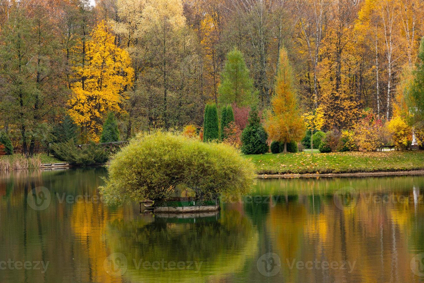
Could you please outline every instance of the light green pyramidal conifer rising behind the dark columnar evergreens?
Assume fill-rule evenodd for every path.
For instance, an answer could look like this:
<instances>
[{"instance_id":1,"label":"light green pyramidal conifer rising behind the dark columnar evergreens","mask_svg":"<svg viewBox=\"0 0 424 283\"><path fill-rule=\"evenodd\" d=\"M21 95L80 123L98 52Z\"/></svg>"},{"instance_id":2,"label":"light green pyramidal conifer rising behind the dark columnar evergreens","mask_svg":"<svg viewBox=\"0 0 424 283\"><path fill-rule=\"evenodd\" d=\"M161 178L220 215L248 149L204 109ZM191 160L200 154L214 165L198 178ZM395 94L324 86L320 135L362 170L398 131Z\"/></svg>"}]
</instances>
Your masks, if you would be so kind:
<instances>
[{"instance_id":1,"label":"light green pyramidal conifer rising behind the dark columnar evergreens","mask_svg":"<svg viewBox=\"0 0 424 283\"><path fill-rule=\"evenodd\" d=\"M235 102L237 106L246 106L257 103L258 92L254 90L243 53L236 47L227 54L221 77L222 83L218 89L221 105Z\"/></svg>"}]
</instances>

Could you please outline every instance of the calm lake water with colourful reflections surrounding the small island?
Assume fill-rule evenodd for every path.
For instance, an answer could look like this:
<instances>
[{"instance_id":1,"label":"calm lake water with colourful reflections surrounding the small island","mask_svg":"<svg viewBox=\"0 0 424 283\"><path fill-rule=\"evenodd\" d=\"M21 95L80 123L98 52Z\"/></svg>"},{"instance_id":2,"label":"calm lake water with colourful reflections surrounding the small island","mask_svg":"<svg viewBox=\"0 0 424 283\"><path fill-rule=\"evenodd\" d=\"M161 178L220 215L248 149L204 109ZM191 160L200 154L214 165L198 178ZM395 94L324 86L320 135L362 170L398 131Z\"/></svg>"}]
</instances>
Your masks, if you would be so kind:
<instances>
[{"instance_id":1,"label":"calm lake water with colourful reflections surrounding the small island","mask_svg":"<svg viewBox=\"0 0 424 283\"><path fill-rule=\"evenodd\" d=\"M0 282L424 282L424 176L260 179L182 218L104 206L105 175L0 173Z\"/></svg>"}]
</instances>

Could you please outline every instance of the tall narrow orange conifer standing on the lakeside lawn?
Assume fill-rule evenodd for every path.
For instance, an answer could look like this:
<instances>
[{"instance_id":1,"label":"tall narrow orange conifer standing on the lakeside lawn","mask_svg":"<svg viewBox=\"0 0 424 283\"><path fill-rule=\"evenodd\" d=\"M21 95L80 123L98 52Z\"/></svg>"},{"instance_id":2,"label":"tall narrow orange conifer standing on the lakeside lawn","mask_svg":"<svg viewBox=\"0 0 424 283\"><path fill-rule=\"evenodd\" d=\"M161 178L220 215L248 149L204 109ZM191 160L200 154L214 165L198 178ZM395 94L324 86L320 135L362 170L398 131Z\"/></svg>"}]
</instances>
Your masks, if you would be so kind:
<instances>
[{"instance_id":1,"label":"tall narrow orange conifer standing on the lakeside lawn","mask_svg":"<svg viewBox=\"0 0 424 283\"><path fill-rule=\"evenodd\" d=\"M280 49L279 58L272 111L266 113L265 128L272 140L284 143L284 152L287 152L287 143L301 140L305 125L298 109L292 67L284 47Z\"/></svg>"}]
</instances>

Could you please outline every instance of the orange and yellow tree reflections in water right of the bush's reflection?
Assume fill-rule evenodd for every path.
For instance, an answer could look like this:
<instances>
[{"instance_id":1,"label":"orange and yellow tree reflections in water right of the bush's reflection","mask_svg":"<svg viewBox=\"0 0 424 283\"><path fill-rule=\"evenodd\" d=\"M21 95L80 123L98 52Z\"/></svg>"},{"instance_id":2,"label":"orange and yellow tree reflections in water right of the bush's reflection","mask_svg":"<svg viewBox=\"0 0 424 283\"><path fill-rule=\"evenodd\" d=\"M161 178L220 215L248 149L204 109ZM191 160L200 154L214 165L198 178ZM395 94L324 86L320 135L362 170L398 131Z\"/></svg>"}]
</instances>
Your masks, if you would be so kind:
<instances>
[{"instance_id":1,"label":"orange and yellow tree reflections in water right of the bush's reflection","mask_svg":"<svg viewBox=\"0 0 424 283\"><path fill-rule=\"evenodd\" d=\"M346 186L354 189L355 202L340 209L335 193ZM259 182L256 193L288 196L286 202L270 207L267 228L287 281L413 282L410 260L424 251L422 188L424 178L419 176L295 179ZM351 274L290 270L287 258L356 260L356 265Z\"/></svg>"}]
</instances>

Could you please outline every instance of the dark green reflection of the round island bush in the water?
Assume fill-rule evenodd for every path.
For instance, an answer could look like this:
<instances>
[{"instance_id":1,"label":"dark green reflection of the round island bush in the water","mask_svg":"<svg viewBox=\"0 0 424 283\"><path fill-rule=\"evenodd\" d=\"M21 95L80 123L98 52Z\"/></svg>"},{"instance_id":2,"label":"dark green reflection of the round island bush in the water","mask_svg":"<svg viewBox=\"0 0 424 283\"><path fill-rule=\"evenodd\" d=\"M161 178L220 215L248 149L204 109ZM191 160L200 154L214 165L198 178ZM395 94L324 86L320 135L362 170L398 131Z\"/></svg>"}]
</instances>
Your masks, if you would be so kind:
<instances>
[{"instance_id":1,"label":"dark green reflection of the round island bush in the water","mask_svg":"<svg viewBox=\"0 0 424 283\"><path fill-rule=\"evenodd\" d=\"M113 252L122 252L128 260L125 277L134 282L187 282L218 280L237 272L254 255L257 235L251 221L237 210L221 213L218 220L173 223L155 217L151 223L113 221L107 232ZM137 270L134 262L202 262L193 270Z\"/></svg>"}]
</instances>

